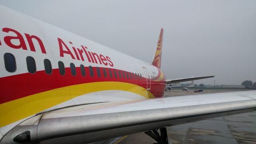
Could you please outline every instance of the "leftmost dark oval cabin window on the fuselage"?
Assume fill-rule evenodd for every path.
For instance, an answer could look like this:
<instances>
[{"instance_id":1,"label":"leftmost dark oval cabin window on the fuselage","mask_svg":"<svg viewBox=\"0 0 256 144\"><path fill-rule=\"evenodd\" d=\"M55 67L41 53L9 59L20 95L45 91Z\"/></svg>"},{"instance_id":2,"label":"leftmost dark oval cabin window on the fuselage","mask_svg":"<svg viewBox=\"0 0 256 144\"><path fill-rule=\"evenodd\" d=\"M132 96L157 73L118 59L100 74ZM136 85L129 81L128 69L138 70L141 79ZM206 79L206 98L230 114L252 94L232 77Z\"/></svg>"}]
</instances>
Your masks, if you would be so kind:
<instances>
[{"instance_id":1,"label":"leftmost dark oval cabin window on the fuselage","mask_svg":"<svg viewBox=\"0 0 256 144\"><path fill-rule=\"evenodd\" d=\"M12 54L10 54L10 53L4 54L4 66L8 72L16 71L16 61Z\"/></svg>"}]
</instances>

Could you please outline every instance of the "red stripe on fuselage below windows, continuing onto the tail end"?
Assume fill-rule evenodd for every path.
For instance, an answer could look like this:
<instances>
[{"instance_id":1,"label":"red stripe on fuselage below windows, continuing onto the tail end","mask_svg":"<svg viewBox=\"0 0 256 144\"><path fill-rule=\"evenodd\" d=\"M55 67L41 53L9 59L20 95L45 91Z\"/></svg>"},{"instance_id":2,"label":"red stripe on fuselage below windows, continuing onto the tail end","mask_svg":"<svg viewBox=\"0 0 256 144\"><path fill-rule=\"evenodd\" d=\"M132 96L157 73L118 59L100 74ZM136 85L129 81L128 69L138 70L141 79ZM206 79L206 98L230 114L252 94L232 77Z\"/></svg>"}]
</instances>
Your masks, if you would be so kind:
<instances>
[{"instance_id":1,"label":"red stripe on fuselage below windows, continuing onto the tail end","mask_svg":"<svg viewBox=\"0 0 256 144\"><path fill-rule=\"evenodd\" d=\"M116 70L117 78L114 76L114 69L105 68L107 77L104 77L103 68L100 68L101 77L98 77L96 67L93 67L94 77L90 76L89 68L85 67L86 76L82 76L80 67L76 68L76 76L72 76L70 68L65 68L66 74L64 76L60 75L59 69L53 69L52 74L48 75L44 70L37 71L35 74L24 73L14 76L7 76L0 78L1 83L1 96L0 104L16 100L18 98L23 98L25 96L30 96L32 94L37 94L40 92L45 92L48 90L53 90L56 88L62 88L65 86L72 86L76 84L84 84L90 82L127 82L131 84L136 84L146 88L146 78L123 78L123 71L121 71L122 78L119 78L118 70ZM112 71L112 78L109 75L109 69ZM126 71L125 77L126 77ZM113 88L114 89L114 88ZM165 83L162 82L152 82L150 92L155 97L162 97L165 89Z\"/></svg>"}]
</instances>

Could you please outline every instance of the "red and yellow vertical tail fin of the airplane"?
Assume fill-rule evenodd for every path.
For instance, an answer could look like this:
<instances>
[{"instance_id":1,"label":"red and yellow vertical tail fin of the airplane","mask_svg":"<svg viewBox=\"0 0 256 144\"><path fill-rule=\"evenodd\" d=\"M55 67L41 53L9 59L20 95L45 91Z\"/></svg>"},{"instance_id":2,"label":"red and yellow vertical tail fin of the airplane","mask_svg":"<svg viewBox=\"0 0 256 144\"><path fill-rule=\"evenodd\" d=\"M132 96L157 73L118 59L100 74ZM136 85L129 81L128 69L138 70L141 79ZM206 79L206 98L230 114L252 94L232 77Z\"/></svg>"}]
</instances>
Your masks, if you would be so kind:
<instances>
[{"instance_id":1,"label":"red and yellow vertical tail fin of the airplane","mask_svg":"<svg viewBox=\"0 0 256 144\"><path fill-rule=\"evenodd\" d=\"M160 36L157 42L156 52L154 54L153 61L152 61L152 64L158 68L161 68L163 34L164 34L164 29L161 28Z\"/></svg>"}]
</instances>

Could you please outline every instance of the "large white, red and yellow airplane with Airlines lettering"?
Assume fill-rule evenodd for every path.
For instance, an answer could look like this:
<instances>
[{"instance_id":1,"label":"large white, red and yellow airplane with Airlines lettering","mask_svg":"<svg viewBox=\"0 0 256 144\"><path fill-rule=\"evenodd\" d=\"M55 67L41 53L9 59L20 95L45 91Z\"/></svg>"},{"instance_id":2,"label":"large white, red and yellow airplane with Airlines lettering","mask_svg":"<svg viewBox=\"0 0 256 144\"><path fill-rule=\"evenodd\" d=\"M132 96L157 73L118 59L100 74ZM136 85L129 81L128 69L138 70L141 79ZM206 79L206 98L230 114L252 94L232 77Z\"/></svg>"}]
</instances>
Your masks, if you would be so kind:
<instances>
[{"instance_id":1,"label":"large white, red and yellow airplane with Airlines lettering","mask_svg":"<svg viewBox=\"0 0 256 144\"><path fill-rule=\"evenodd\" d=\"M214 77L166 80L163 29L148 63L5 6L0 20L0 144L137 132L166 144L167 126L256 110L256 91L163 98L166 84Z\"/></svg>"}]
</instances>

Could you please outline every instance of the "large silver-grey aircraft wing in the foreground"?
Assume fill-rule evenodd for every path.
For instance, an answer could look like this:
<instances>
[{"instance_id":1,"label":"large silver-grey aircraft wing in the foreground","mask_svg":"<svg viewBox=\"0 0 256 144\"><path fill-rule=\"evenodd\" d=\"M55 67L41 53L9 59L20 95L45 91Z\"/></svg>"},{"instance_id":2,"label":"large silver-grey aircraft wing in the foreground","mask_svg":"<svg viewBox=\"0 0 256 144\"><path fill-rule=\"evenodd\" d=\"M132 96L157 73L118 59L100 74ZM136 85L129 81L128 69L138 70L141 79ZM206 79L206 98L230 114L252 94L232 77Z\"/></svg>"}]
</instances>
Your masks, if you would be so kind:
<instances>
[{"instance_id":1,"label":"large silver-grey aircraft wing in the foreground","mask_svg":"<svg viewBox=\"0 0 256 144\"><path fill-rule=\"evenodd\" d=\"M38 114L8 132L2 143L94 142L252 110L256 90L87 104Z\"/></svg>"}]
</instances>

